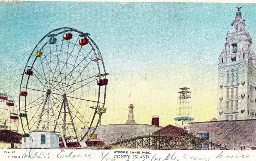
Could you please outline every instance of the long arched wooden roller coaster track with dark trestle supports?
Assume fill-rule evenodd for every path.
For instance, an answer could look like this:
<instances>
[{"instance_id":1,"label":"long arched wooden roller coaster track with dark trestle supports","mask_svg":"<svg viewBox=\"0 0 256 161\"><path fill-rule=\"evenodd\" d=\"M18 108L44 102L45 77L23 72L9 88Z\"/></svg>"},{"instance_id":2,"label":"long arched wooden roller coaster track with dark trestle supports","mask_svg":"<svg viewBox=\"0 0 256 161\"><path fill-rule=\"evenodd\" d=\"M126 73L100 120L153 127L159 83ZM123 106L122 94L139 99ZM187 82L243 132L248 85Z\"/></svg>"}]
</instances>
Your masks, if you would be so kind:
<instances>
[{"instance_id":1,"label":"long arched wooden roller coaster track with dark trestle supports","mask_svg":"<svg viewBox=\"0 0 256 161\"><path fill-rule=\"evenodd\" d=\"M217 142L198 138L193 134L166 135L142 134L124 138L112 145L122 145L131 149L158 149L158 150L231 150L233 148Z\"/></svg>"}]
</instances>

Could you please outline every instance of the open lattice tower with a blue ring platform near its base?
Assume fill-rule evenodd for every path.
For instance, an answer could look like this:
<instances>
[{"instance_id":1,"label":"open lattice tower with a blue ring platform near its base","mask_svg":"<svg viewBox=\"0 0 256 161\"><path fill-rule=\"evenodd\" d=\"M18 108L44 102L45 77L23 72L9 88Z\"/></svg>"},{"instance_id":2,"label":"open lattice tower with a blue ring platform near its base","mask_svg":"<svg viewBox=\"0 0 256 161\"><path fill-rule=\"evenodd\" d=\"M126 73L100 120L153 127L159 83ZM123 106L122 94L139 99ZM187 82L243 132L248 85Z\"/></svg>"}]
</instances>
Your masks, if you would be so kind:
<instances>
[{"instance_id":1,"label":"open lattice tower with a blue ring platform near its base","mask_svg":"<svg viewBox=\"0 0 256 161\"><path fill-rule=\"evenodd\" d=\"M193 121L191 113L191 91L187 87L180 88L178 92L178 102L177 102L177 109L176 109L176 125L178 127L182 127L187 129L187 123Z\"/></svg>"}]
</instances>

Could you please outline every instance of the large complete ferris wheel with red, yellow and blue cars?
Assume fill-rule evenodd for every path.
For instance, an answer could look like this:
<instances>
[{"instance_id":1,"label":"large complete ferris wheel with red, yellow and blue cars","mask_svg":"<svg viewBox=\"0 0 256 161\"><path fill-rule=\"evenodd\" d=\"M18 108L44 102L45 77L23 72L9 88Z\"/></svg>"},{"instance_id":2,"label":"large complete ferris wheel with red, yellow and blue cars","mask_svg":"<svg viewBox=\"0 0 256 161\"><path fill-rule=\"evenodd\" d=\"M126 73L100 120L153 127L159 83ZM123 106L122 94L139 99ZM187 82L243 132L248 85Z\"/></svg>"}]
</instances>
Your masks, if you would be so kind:
<instances>
[{"instance_id":1,"label":"large complete ferris wheel with red, yellow and blue cars","mask_svg":"<svg viewBox=\"0 0 256 161\"><path fill-rule=\"evenodd\" d=\"M62 140L68 137L78 142L89 130L95 132L106 112L108 73L89 35L62 27L35 46L20 83L20 121L25 134L57 131ZM80 135L82 128L88 130Z\"/></svg>"}]
</instances>

